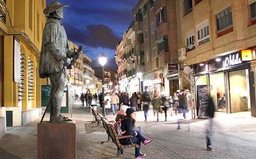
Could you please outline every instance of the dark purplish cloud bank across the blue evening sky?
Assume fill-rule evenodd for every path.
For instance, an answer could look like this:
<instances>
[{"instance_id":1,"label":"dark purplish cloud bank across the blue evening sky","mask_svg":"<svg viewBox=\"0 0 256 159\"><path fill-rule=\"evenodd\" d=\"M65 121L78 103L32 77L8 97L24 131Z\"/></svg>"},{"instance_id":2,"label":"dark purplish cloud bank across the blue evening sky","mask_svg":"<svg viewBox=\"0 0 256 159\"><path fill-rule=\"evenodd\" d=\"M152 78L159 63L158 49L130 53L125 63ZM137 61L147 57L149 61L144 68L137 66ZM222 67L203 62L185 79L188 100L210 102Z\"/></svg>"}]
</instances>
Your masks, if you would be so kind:
<instances>
[{"instance_id":1,"label":"dark purplish cloud bank across the blue evening sky","mask_svg":"<svg viewBox=\"0 0 256 159\"><path fill-rule=\"evenodd\" d=\"M70 24L63 24L67 30L68 38L90 48L116 49L121 37L117 37L111 28L106 25L88 25L85 30L75 28Z\"/></svg>"}]
</instances>

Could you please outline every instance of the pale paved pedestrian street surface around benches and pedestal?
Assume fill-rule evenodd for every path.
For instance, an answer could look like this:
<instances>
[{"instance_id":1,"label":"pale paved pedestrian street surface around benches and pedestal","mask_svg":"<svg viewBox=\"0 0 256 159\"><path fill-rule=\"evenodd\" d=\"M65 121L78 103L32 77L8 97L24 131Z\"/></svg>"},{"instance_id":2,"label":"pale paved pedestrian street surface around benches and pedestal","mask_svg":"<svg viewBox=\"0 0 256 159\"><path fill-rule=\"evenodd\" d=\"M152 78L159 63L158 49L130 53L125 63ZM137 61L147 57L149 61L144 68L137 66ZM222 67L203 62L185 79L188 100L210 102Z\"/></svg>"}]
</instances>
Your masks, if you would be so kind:
<instances>
[{"instance_id":1,"label":"pale paved pedestrian street surface around benches and pedestal","mask_svg":"<svg viewBox=\"0 0 256 159\"><path fill-rule=\"evenodd\" d=\"M70 116L70 114L66 114ZM144 146L145 158L255 158L256 156L256 118L249 113L221 114L214 119L213 152L206 150L205 127L207 120L189 119L183 121L177 129L177 116L169 116L164 122L154 121L152 110L149 121L144 122L143 111L137 112L137 126L154 141ZM117 158L117 148L107 140L103 126L91 123L93 116L89 108L74 108L73 120L76 122L77 159L82 158ZM112 120L116 116L107 116ZM48 119L45 118L45 120ZM37 158L37 122L24 127L10 127L7 134L0 139L1 159L35 159ZM190 123L190 131L188 131ZM65 146L65 145L63 145ZM134 148L126 148L122 158L134 158Z\"/></svg>"}]
</instances>

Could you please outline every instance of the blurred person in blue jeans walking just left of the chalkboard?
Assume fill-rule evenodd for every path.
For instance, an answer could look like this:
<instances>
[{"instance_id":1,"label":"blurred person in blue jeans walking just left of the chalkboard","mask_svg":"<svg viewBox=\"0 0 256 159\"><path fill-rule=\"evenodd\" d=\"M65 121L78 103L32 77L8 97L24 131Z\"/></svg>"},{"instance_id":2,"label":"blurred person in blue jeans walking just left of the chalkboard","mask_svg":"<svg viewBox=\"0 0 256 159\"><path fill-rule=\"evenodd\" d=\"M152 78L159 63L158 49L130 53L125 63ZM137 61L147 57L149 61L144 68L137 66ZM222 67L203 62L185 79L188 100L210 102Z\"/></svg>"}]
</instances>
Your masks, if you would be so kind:
<instances>
[{"instance_id":1,"label":"blurred person in blue jeans walking just left of the chalkboard","mask_svg":"<svg viewBox=\"0 0 256 159\"><path fill-rule=\"evenodd\" d=\"M179 119L178 119L178 129L180 129L180 123L181 123L181 114L183 114L183 118L186 119L186 110L188 108L188 100L186 98L186 90L181 91L181 95L179 96Z\"/></svg>"}]
</instances>

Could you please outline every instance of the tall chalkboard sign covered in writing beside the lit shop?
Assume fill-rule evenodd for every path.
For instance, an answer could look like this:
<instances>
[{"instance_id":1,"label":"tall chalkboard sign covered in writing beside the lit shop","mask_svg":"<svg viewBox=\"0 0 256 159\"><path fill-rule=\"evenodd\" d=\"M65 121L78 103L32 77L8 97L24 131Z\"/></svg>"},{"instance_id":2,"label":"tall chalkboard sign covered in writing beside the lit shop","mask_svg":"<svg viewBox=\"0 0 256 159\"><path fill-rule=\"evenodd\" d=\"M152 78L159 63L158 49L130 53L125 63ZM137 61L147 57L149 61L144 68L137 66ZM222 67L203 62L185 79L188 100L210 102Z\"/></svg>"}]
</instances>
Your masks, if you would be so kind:
<instances>
[{"instance_id":1,"label":"tall chalkboard sign covered in writing beside the lit shop","mask_svg":"<svg viewBox=\"0 0 256 159\"><path fill-rule=\"evenodd\" d=\"M197 110L198 118L207 118L208 117L208 106L209 106L209 87L208 85L198 85L197 86Z\"/></svg>"}]
</instances>

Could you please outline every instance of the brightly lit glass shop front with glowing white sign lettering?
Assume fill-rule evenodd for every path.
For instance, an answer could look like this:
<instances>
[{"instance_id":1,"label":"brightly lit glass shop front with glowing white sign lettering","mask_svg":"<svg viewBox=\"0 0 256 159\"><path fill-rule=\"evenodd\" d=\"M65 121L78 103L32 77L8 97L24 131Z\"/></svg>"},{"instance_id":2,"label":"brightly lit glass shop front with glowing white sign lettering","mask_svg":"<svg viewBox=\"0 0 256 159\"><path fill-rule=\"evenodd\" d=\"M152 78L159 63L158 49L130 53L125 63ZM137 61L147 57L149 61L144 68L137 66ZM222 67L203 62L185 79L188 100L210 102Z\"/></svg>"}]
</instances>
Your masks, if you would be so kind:
<instances>
[{"instance_id":1,"label":"brightly lit glass shop front with glowing white sign lettering","mask_svg":"<svg viewBox=\"0 0 256 159\"><path fill-rule=\"evenodd\" d=\"M242 50L193 65L198 112L203 108L198 88L206 85L216 111L237 113L253 110L251 114L256 116L254 72L250 66L252 58L244 57Z\"/></svg>"}]
</instances>

